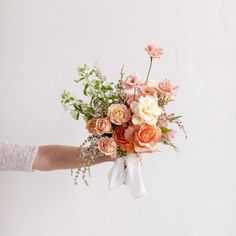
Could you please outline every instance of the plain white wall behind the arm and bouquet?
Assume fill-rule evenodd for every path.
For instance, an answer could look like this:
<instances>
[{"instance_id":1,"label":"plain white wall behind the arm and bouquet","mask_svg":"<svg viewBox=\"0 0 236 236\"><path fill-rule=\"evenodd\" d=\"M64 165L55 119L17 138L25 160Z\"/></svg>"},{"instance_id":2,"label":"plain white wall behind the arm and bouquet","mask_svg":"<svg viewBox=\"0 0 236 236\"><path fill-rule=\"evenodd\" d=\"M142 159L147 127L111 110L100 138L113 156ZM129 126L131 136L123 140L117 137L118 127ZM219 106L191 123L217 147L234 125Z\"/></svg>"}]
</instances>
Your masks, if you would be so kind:
<instances>
[{"instance_id":1,"label":"plain white wall behind the arm and bouquet","mask_svg":"<svg viewBox=\"0 0 236 236\"><path fill-rule=\"evenodd\" d=\"M60 102L79 92L76 67L99 65L111 80L146 74L148 42L165 54L156 80L180 85L184 115L178 154L147 156L148 195L111 193L111 163L92 169L90 187L70 171L0 173L1 236L235 236L236 3L233 0L0 0L0 139L79 145L86 131ZM110 210L109 210L110 209ZM107 215L110 213L108 224Z\"/></svg>"}]
</instances>

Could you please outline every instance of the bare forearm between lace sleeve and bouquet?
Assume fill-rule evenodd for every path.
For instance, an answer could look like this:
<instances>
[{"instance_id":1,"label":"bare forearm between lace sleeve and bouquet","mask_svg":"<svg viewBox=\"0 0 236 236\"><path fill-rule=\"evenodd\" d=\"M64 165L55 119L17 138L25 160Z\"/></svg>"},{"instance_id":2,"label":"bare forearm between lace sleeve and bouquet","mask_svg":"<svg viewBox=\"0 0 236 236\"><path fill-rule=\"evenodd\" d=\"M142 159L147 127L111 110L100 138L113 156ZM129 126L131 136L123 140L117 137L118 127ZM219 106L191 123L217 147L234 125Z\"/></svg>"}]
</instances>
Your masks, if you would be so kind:
<instances>
[{"instance_id":1,"label":"bare forearm between lace sleeve and bouquet","mask_svg":"<svg viewBox=\"0 0 236 236\"><path fill-rule=\"evenodd\" d=\"M80 156L78 147L64 145L47 145L39 146L37 156L33 162L33 170L50 171L57 169L72 169L74 168L75 160ZM96 165L102 162L114 161L115 158L103 156L92 162ZM85 166L86 163L80 159L80 166Z\"/></svg>"}]
</instances>

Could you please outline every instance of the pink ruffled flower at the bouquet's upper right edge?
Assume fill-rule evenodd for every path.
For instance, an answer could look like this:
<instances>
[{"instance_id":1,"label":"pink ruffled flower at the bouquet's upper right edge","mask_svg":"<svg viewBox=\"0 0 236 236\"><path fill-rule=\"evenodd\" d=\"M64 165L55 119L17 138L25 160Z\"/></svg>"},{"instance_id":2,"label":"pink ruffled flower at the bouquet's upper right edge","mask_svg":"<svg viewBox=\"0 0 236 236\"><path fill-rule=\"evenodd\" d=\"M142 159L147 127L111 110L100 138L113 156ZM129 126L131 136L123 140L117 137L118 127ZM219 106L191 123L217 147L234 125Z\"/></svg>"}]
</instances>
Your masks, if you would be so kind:
<instances>
[{"instance_id":1,"label":"pink ruffled flower at the bouquet's upper right edge","mask_svg":"<svg viewBox=\"0 0 236 236\"><path fill-rule=\"evenodd\" d=\"M174 86L170 80L164 79L156 87L159 96L165 96L168 99L174 100L179 86Z\"/></svg>"}]
</instances>

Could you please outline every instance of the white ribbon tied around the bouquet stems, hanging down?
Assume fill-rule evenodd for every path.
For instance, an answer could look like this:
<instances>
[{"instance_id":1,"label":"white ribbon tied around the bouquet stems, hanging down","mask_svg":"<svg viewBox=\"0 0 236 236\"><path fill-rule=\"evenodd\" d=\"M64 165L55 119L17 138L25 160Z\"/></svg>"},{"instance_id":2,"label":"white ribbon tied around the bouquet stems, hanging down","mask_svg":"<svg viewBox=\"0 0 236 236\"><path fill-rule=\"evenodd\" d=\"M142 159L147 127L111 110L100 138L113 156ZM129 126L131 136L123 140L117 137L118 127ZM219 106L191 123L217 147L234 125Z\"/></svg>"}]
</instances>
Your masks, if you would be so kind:
<instances>
[{"instance_id":1,"label":"white ribbon tied around the bouquet stems, hanging down","mask_svg":"<svg viewBox=\"0 0 236 236\"><path fill-rule=\"evenodd\" d=\"M134 198L143 197L147 191L143 184L141 164L135 154L118 158L108 173L109 189L125 184Z\"/></svg>"}]
</instances>

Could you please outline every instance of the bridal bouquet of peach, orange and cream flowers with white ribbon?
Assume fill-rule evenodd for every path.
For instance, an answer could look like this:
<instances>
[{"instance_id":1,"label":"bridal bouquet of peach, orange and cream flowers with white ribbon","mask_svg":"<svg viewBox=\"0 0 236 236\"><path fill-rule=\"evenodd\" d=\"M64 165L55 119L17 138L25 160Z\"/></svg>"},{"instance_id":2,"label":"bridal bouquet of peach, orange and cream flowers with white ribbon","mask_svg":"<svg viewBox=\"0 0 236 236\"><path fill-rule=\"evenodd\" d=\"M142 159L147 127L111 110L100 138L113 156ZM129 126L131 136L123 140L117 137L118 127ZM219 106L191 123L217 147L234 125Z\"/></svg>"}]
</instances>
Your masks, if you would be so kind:
<instances>
[{"instance_id":1,"label":"bridal bouquet of peach, orange and cream flowers with white ribbon","mask_svg":"<svg viewBox=\"0 0 236 236\"><path fill-rule=\"evenodd\" d=\"M119 157L109 172L110 188L125 183L133 196L142 196L146 192L141 178L142 153L156 152L160 144L178 151L173 143L176 130L171 124L184 133L185 130L181 116L169 114L166 109L175 100L178 86L167 79L159 82L150 79L153 60L160 59L163 49L149 44L145 50L150 58L145 79L137 73L125 77L122 67L120 78L114 83L107 80L97 65L92 68L84 65L78 68L79 78L75 80L76 83L83 82L84 99L66 90L62 93L61 103L65 109L70 107L76 120L82 116L89 133L80 153L87 165L80 167L75 163L75 183L82 174L88 184L90 165L96 158Z\"/></svg>"}]
</instances>

